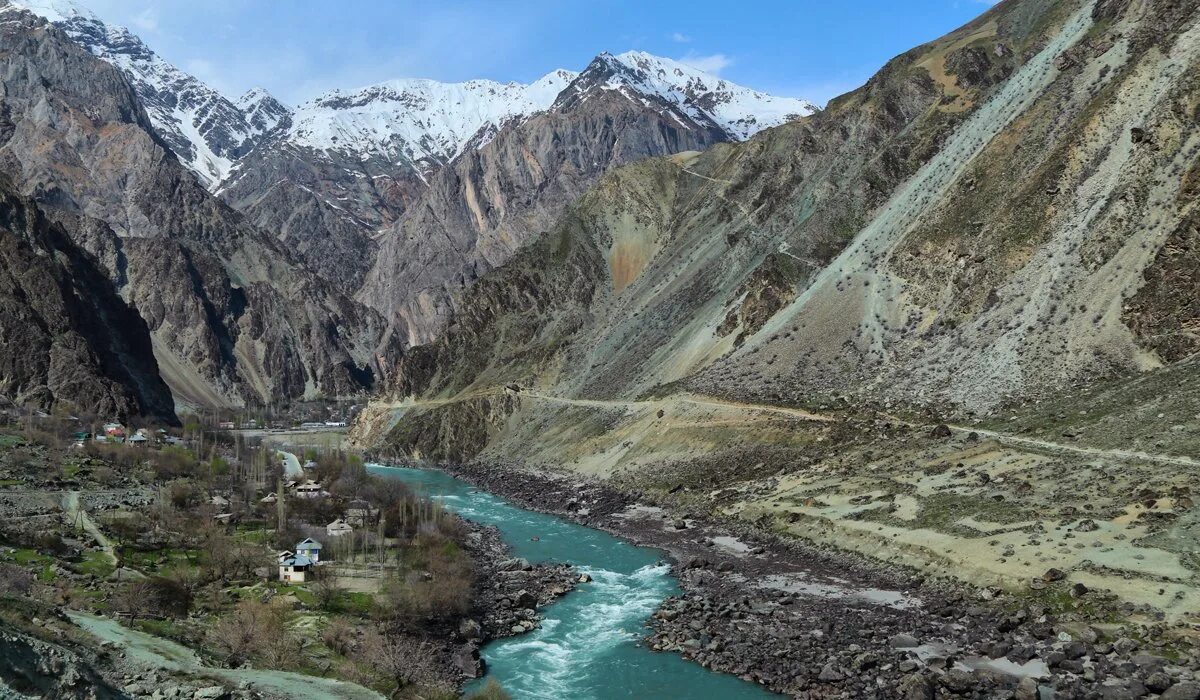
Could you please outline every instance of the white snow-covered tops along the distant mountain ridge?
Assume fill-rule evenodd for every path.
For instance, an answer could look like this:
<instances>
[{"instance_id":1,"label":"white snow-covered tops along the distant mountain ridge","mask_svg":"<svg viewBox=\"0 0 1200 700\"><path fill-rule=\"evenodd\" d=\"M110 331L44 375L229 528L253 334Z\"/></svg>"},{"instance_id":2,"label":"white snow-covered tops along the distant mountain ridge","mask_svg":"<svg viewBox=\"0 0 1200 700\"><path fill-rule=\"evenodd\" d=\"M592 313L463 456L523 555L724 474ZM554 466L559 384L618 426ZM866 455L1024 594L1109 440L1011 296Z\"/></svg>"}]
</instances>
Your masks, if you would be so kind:
<instances>
[{"instance_id":1,"label":"white snow-covered tops along the distant mountain ridge","mask_svg":"<svg viewBox=\"0 0 1200 700\"><path fill-rule=\"evenodd\" d=\"M680 125L715 127L738 140L816 110L804 100L767 95L644 52L601 53L582 73L556 70L528 84L388 80L332 90L293 110L263 88L230 101L74 0L10 0L5 6L14 7L54 23L120 68L155 130L210 190L268 133L301 150L382 158L427 172L481 148L512 120L578 104L596 89L620 90L647 106L665 103Z\"/></svg>"}]
</instances>

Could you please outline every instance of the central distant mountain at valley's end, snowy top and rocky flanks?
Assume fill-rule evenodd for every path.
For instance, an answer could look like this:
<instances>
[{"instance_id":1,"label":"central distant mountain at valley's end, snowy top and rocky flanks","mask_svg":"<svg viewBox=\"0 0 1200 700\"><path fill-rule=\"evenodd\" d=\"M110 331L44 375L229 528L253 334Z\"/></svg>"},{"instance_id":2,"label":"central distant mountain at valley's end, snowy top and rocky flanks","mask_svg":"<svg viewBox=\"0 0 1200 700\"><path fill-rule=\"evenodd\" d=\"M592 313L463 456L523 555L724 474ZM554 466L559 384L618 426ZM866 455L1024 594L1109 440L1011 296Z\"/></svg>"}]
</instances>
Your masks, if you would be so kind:
<instances>
[{"instance_id":1,"label":"central distant mountain at valley's end, snowy top and rocky flanks","mask_svg":"<svg viewBox=\"0 0 1200 700\"><path fill-rule=\"evenodd\" d=\"M300 106L220 193L420 343L600 173L814 109L643 53L529 85L394 80Z\"/></svg>"}]
</instances>

